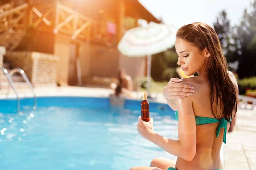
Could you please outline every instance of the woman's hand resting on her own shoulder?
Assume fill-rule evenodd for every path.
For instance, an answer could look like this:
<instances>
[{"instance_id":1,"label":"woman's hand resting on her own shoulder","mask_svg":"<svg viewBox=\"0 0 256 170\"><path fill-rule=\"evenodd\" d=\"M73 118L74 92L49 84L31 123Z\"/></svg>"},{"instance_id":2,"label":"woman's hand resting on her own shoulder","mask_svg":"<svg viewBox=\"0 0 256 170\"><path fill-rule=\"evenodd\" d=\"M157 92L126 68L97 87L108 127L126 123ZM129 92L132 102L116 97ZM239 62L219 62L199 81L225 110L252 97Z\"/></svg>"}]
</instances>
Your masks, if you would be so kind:
<instances>
[{"instance_id":1,"label":"woman's hand resting on her own shoulder","mask_svg":"<svg viewBox=\"0 0 256 170\"><path fill-rule=\"evenodd\" d=\"M192 95L194 90L192 86L181 83L182 79L172 78L163 88L163 96L166 99L183 99Z\"/></svg>"}]
</instances>

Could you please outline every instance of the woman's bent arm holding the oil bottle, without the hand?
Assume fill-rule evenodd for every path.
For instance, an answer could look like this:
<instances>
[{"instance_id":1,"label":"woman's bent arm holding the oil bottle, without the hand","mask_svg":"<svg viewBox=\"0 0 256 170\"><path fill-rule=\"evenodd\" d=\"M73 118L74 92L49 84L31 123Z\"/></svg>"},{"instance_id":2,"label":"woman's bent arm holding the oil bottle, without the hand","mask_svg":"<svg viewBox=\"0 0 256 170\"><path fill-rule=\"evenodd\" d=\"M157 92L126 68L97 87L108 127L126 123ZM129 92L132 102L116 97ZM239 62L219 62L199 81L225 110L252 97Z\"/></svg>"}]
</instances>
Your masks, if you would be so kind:
<instances>
[{"instance_id":1,"label":"woman's bent arm holding the oil bottle, without the hand","mask_svg":"<svg viewBox=\"0 0 256 170\"><path fill-rule=\"evenodd\" d=\"M168 139L153 133L149 141L157 144L163 150L186 161L192 161L196 153L196 124L192 107L192 97L175 100L179 112L179 140Z\"/></svg>"}]
</instances>

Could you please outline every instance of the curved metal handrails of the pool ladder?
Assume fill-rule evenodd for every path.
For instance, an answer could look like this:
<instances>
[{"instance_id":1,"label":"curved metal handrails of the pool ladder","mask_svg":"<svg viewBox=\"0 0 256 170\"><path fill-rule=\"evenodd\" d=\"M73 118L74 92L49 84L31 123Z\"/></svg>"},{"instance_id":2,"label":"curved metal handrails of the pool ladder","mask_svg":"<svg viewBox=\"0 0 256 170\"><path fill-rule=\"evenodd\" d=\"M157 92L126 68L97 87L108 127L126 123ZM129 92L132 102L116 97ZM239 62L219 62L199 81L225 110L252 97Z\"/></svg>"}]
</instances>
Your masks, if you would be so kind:
<instances>
[{"instance_id":1,"label":"curved metal handrails of the pool ladder","mask_svg":"<svg viewBox=\"0 0 256 170\"><path fill-rule=\"evenodd\" d=\"M36 107L37 107L37 103L36 103L36 96L35 96L34 88L31 85L31 83L30 83L28 77L26 76L25 72L21 68L14 68L12 71L10 71L10 74L9 74L6 68L1 67L0 69L5 73L6 78L8 79L8 82L9 82L8 92L7 92L6 96L9 94L10 86L12 87L13 91L15 92L15 94L17 96L17 113L20 112L20 97L19 97L17 89L15 88L15 85L14 85L14 83L12 81L12 75L14 73L19 73L22 76L23 80L26 82L26 84L29 86L30 90L32 91L33 96L34 96L34 106L33 106L33 109L35 110Z\"/></svg>"}]
</instances>

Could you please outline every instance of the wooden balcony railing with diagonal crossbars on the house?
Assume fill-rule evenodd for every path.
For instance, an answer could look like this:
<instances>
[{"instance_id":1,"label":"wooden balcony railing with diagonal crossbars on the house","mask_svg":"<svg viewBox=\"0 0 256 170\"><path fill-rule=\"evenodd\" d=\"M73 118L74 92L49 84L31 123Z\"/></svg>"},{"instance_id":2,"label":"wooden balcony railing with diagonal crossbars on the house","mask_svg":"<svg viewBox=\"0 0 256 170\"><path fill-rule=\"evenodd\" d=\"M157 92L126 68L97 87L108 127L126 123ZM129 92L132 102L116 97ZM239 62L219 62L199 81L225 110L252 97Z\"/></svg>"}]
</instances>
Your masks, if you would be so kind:
<instances>
[{"instance_id":1,"label":"wooden balcony railing with diagonal crossbars on the house","mask_svg":"<svg viewBox=\"0 0 256 170\"><path fill-rule=\"evenodd\" d=\"M23 4L13 8L11 3L0 6L0 45L14 49L27 26L35 26L39 31L48 30L55 34L64 34L70 39L86 40L108 45L107 22L93 20L61 3ZM8 39L16 35L15 43L6 45ZM116 38L111 40L116 44Z\"/></svg>"}]
</instances>

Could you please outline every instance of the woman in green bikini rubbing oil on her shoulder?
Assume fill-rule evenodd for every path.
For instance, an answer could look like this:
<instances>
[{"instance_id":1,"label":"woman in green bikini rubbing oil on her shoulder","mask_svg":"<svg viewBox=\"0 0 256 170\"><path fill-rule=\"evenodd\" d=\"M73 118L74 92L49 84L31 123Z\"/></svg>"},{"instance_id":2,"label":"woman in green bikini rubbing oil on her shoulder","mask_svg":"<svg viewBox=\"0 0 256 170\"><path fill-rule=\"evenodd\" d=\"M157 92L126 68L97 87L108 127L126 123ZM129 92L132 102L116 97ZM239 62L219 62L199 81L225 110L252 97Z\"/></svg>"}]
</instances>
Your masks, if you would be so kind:
<instances>
[{"instance_id":1,"label":"woman in green bikini rubbing oil on her shoulder","mask_svg":"<svg viewBox=\"0 0 256 170\"><path fill-rule=\"evenodd\" d=\"M182 80L183 88L191 92L181 98L177 92L176 100L167 100L169 106L177 110L179 140L155 133L152 118L143 122L139 117L137 130L143 138L177 156L176 164L157 158L151 161L151 167L132 167L131 170L223 169L220 149L222 142L226 143L226 133L237 110L236 78L228 71L217 34L207 24L182 26L176 34L175 48L177 64L186 76L199 74ZM169 87L165 87L164 96L166 91L173 90L166 88Z\"/></svg>"}]
</instances>

